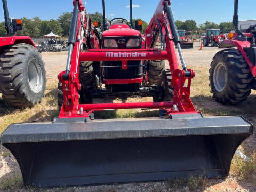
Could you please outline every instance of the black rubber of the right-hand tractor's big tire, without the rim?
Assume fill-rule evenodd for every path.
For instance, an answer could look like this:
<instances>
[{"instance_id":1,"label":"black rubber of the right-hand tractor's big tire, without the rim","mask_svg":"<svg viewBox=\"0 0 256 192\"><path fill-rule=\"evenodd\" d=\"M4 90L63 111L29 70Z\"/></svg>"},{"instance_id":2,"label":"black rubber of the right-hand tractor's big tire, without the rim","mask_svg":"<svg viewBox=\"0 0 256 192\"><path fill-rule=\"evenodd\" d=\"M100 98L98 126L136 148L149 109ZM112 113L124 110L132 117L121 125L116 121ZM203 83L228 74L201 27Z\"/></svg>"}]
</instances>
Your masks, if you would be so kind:
<instances>
[{"instance_id":1,"label":"black rubber of the right-hand tractor's big tire, without the rim","mask_svg":"<svg viewBox=\"0 0 256 192\"><path fill-rule=\"evenodd\" d=\"M219 97L218 91L214 88L213 83L213 68L215 62L222 60L228 67L228 82L225 92L222 97ZM225 49L218 52L211 62L211 68L209 69L209 80L211 93L213 98L222 104L235 105L247 99L251 94L251 87L253 82L253 76L246 60L242 53L237 49Z\"/></svg>"}]
</instances>

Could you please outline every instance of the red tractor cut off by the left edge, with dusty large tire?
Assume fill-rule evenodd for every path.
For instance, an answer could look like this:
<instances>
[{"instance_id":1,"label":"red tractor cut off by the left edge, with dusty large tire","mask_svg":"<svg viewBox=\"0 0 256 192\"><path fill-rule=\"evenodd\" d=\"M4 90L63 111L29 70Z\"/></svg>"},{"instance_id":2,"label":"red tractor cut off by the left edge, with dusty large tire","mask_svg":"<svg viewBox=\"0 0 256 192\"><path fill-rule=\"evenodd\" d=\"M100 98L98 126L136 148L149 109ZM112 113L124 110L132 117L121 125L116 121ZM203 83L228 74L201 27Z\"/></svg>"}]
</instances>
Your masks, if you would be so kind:
<instances>
[{"instance_id":1,"label":"red tractor cut off by the left edge, with dusty large tire","mask_svg":"<svg viewBox=\"0 0 256 192\"><path fill-rule=\"evenodd\" d=\"M6 0L3 7L7 35L0 37L0 92L11 106L33 107L44 96L44 61L30 37L15 36L22 20L11 20Z\"/></svg>"}]
</instances>

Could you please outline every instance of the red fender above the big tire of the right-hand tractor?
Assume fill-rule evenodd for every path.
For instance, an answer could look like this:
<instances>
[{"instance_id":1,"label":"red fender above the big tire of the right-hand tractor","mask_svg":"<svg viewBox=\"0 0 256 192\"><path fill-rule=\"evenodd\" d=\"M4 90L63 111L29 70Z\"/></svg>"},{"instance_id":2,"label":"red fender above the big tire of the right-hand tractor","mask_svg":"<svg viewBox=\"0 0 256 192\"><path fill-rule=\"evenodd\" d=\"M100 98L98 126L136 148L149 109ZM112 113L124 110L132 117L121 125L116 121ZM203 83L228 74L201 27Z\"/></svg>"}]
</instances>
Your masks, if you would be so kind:
<instances>
[{"instance_id":1,"label":"red fender above the big tire of the right-hand tractor","mask_svg":"<svg viewBox=\"0 0 256 192\"><path fill-rule=\"evenodd\" d=\"M249 58L247 57L246 52L244 51L245 47L250 47L251 43L248 41L238 41L235 39L225 39L222 41L222 43L219 45L219 48L232 48L232 47L237 47L237 49L242 53L242 55L244 56L244 59L246 60L246 62L248 63L250 69L251 69L251 73L254 77L256 77L256 66L253 65Z\"/></svg>"}]
</instances>

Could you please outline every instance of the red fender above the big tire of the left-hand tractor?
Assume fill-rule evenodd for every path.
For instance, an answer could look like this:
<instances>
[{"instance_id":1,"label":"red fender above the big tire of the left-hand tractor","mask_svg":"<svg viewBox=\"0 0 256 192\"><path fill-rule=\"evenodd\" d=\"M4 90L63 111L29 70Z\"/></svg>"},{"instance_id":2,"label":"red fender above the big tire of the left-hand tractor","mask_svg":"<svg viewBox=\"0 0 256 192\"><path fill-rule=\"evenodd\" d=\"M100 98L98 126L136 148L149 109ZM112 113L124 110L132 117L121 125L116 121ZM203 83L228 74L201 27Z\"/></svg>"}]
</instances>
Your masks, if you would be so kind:
<instances>
[{"instance_id":1,"label":"red fender above the big tire of the left-hand tractor","mask_svg":"<svg viewBox=\"0 0 256 192\"><path fill-rule=\"evenodd\" d=\"M13 45L15 43L26 43L36 48L34 42L28 36L0 37L0 49L4 46Z\"/></svg>"}]
</instances>

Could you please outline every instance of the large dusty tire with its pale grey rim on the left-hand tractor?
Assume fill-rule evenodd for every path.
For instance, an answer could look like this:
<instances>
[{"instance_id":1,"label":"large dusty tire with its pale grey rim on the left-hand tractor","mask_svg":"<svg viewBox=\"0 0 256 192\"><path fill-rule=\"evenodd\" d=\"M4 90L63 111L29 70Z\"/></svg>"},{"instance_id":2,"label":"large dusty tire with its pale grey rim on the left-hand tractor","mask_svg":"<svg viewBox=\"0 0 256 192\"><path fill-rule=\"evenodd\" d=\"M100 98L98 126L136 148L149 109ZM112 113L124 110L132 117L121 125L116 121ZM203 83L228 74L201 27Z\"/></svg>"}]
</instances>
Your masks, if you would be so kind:
<instances>
[{"instance_id":1,"label":"large dusty tire with its pale grey rim on the left-hand tractor","mask_svg":"<svg viewBox=\"0 0 256 192\"><path fill-rule=\"evenodd\" d=\"M45 91L44 61L34 46L18 43L7 46L0 56L0 92L17 108L33 107Z\"/></svg>"}]
</instances>

